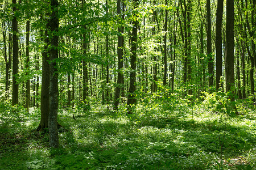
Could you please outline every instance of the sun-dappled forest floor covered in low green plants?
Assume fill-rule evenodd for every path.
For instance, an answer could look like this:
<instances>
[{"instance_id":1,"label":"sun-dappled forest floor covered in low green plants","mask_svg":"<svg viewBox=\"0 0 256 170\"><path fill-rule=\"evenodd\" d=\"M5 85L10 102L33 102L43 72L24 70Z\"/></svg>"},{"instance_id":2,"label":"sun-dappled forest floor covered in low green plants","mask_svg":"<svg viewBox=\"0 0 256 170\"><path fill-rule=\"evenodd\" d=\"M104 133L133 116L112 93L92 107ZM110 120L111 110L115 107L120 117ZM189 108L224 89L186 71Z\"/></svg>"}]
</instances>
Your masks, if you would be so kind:
<instances>
[{"instance_id":1,"label":"sun-dappled forest floor covered in low green plants","mask_svg":"<svg viewBox=\"0 0 256 170\"><path fill-rule=\"evenodd\" d=\"M2 105L0 169L256 169L256 114L237 108L228 116L210 103L152 99L131 115L122 105L60 109L60 148L51 149L34 131L38 109Z\"/></svg>"}]
</instances>

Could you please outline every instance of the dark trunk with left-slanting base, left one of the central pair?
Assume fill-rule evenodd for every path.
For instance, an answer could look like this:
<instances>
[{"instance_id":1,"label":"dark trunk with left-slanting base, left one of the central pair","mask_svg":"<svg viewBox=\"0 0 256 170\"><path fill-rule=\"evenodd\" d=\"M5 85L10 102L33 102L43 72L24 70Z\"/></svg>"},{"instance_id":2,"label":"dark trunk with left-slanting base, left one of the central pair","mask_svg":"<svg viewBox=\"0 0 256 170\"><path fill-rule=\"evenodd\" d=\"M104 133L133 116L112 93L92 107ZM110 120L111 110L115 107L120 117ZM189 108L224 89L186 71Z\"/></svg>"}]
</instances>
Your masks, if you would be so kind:
<instances>
[{"instance_id":1,"label":"dark trunk with left-slanting base, left one of the central pair","mask_svg":"<svg viewBox=\"0 0 256 170\"><path fill-rule=\"evenodd\" d=\"M117 1L117 14L121 15L121 0ZM123 16L122 16L123 19ZM117 85L115 87L114 97L114 109L117 109L119 104L120 91L123 87L123 27L118 27L118 44L117 44L117 58L118 58L118 73L117 73Z\"/></svg>"}]
</instances>

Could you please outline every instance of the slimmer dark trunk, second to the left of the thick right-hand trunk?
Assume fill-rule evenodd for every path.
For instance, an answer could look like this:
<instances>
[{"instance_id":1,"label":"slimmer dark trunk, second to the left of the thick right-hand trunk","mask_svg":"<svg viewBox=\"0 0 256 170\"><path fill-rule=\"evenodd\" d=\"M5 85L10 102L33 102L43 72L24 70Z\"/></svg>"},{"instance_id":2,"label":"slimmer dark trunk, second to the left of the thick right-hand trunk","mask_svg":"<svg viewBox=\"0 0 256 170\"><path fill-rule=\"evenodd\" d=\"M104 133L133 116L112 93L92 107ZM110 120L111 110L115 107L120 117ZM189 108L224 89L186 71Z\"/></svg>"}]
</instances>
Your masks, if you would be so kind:
<instances>
[{"instance_id":1,"label":"slimmer dark trunk, second to the left of the thick right-hand trunk","mask_svg":"<svg viewBox=\"0 0 256 170\"><path fill-rule=\"evenodd\" d=\"M210 0L207 0L207 58L209 73L209 88L213 87L213 58L212 58L212 22L210 20ZM210 91L212 91L210 89Z\"/></svg>"}]
</instances>

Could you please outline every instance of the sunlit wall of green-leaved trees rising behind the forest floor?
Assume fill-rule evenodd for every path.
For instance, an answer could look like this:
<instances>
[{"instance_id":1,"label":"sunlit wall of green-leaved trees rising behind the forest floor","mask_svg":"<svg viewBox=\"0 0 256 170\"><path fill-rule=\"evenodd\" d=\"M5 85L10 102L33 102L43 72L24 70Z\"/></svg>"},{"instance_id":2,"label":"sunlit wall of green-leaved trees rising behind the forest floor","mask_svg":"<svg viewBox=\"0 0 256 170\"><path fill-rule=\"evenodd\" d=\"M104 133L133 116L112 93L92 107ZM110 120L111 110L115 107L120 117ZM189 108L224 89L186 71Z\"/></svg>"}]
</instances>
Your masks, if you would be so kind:
<instances>
[{"instance_id":1,"label":"sunlit wall of green-leaved trees rising behind the forest floor","mask_svg":"<svg viewBox=\"0 0 256 170\"><path fill-rule=\"evenodd\" d=\"M170 95L177 90L182 97L200 99L202 91L213 92L214 87L229 91L231 85L234 97L254 96L255 2L234 1L234 28L226 19L229 8L223 12L228 3L61 1L56 7L57 31L48 23L49 1L1 1L1 99L10 101L13 94L13 105L27 108L40 103L39 129L47 128L53 102L48 96L49 64L53 63L51 77L53 84L58 83L55 90L59 88L54 99L63 108L89 110L90 103L96 102L113 103L117 109L119 101L126 103L119 100L121 96L131 112L131 105L152 94ZM234 40L230 40L232 30ZM59 40L53 43L55 36Z\"/></svg>"}]
</instances>

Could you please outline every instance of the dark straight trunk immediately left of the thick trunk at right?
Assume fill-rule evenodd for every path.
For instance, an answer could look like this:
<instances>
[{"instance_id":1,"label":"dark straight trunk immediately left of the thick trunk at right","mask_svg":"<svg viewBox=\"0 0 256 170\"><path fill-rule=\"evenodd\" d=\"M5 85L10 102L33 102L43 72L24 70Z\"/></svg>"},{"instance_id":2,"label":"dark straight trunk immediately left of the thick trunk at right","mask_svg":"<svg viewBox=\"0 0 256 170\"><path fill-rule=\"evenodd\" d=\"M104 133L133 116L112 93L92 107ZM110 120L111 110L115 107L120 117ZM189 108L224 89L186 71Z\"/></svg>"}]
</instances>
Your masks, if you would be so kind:
<instances>
[{"instance_id":1,"label":"dark straight trunk immediately left of the thick trunk at right","mask_svg":"<svg viewBox=\"0 0 256 170\"><path fill-rule=\"evenodd\" d=\"M222 76L222 14L223 14L223 0L218 0L217 13L216 13L216 90L222 87L223 84L220 82Z\"/></svg>"}]
</instances>

